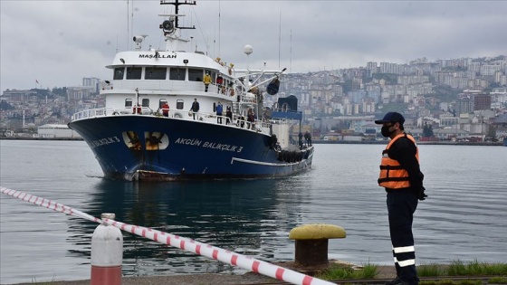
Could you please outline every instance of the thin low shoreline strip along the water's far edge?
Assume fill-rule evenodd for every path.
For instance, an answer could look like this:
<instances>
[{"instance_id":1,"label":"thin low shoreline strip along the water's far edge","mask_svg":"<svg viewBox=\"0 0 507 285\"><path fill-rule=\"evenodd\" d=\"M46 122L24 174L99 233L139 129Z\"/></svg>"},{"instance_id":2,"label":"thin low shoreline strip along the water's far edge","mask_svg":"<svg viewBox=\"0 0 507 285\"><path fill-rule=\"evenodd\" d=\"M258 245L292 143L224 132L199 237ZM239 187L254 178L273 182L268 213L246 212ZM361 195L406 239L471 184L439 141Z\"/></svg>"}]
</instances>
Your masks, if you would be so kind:
<instances>
[{"instance_id":1,"label":"thin low shoreline strip along the water's far edge","mask_svg":"<svg viewBox=\"0 0 507 285\"><path fill-rule=\"evenodd\" d=\"M82 141L82 138L22 138L22 137L0 137L0 140L76 140ZM349 141L349 140L314 140L313 144L316 145L386 145L387 140L364 140L364 141ZM418 145L441 145L441 146L490 146L502 147L501 141L497 142L472 142L472 141L417 141Z\"/></svg>"}]
</instances>

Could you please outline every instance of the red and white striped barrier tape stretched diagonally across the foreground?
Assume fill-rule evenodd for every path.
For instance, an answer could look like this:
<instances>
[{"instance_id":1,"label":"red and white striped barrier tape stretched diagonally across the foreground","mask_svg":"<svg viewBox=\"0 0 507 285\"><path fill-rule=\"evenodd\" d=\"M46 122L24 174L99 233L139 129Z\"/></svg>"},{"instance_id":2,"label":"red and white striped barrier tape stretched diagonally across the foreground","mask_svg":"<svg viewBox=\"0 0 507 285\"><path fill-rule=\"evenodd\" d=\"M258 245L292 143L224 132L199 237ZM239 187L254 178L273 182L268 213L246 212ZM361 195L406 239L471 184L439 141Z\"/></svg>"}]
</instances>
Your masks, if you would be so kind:
<instances>
[{"instance_id":1,"label":"red and white striped barrier tape stretched diagonally across the foreground","mask_svg":"<svg viewBox=\"0 0 507 285\"><path fill-rule=\"evenodd\" d=\"M145 228L139 225L121 223L110 219L100 220L96 217L91 216L90 214L82 213L81 211L73 209L72 207L66 206L64 204L59 204L48 199L43 199L35 195L29 195L20 191L7 189L1 186L0 191L5 195L10 195L13 196L14 198L32 204L40 205L56 212L62 212L64 214L79 216L83 219L96 223L107 223L119 228L122 231L134 233L155 242L167 244L186 252L193 252L199 255L203 255L206 256L207 258L211 258L217 261L222 261L234 266L238 266L245 270L257 272L265 276L275 278L277 280L282 280L286 282L291 282L292 284L301 284L301 285L335 284L330 281L320 280L297 271L285 269L266 261L256 260L250 256L246 256L236 252L226 251L224 249L206 243L196 242L194 240L177 236L171 233L164 233L158 230Z\"/></svg>"}]
</instances>

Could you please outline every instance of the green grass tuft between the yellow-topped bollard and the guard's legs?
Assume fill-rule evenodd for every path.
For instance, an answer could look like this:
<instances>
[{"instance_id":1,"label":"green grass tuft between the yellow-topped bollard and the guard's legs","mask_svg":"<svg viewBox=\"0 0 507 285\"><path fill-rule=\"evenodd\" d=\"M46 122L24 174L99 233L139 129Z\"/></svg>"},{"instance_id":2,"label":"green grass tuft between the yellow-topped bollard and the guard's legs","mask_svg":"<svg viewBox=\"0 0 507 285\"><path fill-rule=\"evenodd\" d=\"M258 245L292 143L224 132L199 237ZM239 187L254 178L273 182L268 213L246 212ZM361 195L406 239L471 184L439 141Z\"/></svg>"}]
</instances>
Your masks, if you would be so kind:
<instances>
[{"instance_id":1,"label":"green grass tuft between the yellow-topped bollard and the guard's legs","mask_svg":"<svg viewBox=\"0 0 507 285\"><path fill-rule=\"evenodd\" d=\"M378 274L378 266L367 264L360 269L350 266L336 264L330 268L315 274L315 277L322 280L348 280L348 279L373 279Z\"/></svg>"}]
</instances>

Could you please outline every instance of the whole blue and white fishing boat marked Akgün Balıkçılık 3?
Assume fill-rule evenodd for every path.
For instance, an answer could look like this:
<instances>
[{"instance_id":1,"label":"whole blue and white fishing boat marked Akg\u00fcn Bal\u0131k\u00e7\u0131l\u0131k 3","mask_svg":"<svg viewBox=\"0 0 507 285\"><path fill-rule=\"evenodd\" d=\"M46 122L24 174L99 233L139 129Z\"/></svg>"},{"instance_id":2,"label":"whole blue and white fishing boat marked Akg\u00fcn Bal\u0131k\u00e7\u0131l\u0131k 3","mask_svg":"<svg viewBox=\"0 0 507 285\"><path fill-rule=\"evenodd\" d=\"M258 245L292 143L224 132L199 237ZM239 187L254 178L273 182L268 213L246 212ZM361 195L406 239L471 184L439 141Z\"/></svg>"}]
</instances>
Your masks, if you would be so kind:
<instances>
[{"instance_id":1,"label":"whole blue and white fishing boat marked Akg\u00fcn Bal\u0131k\u00e7\u0131l\u0131k 3","mask_svg":"<svg viewBox=\"0 0 507 285\"><path fill-rule=\"evenodd\" d=\"M104 176L121 180L290 176L311 167L312 146L298 141L301 111L289 96L264 106L276 95L281 71L237 70L232 63L191 51L180 26L180 5L165 1L174 14L159 25L164 49L118 52L108 66L100 96L105 108L72 115L78 132L99 161ZM253 52L246 44L246 56Z\"/></svg>"}]
</instances>

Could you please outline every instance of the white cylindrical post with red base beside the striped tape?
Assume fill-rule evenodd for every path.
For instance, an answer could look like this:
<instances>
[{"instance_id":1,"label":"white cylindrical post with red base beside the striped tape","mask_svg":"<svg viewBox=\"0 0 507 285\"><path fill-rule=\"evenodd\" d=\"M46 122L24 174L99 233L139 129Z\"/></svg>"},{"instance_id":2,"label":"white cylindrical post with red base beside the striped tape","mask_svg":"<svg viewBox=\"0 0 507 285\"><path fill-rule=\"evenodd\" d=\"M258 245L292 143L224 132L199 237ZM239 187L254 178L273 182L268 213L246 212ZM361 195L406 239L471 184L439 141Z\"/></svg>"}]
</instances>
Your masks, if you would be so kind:
<instances>
[{"instance_id":1,"label":"white cylindrical post with red base beside the striped tape","mask_svg":"<svg viewBox=\"0 0 507 285\"><path fill-rule=\"evenodd\" d=\"M115 214L100 214L114 220ZM119 228L101 223L91 236L91 285L120 285L123 235Z\"/></svg>"}]
</instances>

